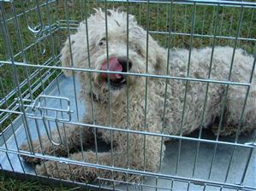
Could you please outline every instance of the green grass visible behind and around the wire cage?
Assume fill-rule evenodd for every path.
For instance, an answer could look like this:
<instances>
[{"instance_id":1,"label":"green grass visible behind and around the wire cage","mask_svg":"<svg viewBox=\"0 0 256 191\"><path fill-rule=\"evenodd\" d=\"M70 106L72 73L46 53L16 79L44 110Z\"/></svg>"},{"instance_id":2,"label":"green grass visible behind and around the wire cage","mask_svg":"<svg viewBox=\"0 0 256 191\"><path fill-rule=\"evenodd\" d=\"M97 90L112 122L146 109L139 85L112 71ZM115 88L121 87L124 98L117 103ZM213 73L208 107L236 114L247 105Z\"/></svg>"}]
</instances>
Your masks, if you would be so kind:
<instances>
[{"instance_id":1,"label":"green grass visible behind and around the wire cage","mask_svg":"<svg viewBox=\"0 0 256 191\"><path fill-rule=\"evenodd\" d=\"M22 4L21 1L14 1L15 11L17 14L21 14L24 8L31 9L36 6L35 1ZM25 2L25 1L24 1ZM45 1L39 0L39 3L44 3ZM51 4L50 6L43 6L40 8L42 20L44 25L49 25L56 23L56 20L65 20L66 19L66 11L63 1L58 1L59 3ZM72 2L72 1L69 1ZM86 1L75 1L75 3L68 4L68 15L70 20L83 20L85 18L86 12L85 7L86 4L80 2ZM95 3L95 1L89 2L89 14L93 12L92 8L102 7L104 8L104 3ZM111 8L121 8L124 11L127 10L127 3L108 3L107 7ZM13 8L10 3L4 3L5 15L8 18L14 16ZM231 7L205 7L202 5L197 5L194 9L193 5L184 5L184 4L173 4L171 7L166 6L164 4L150 4L150 12L147 12L147 4L146 3L130 3L129 4L129 12L134 14L136 19L138 20L141 26L146 28L146 18L149 15L149 27L151 31L162 31L162 32L171 32L174 33L188 33L190 34L193 30L195 34L204 34L204 35L213 35L214 28L216 28L216 35L218 36L231 36L235 37L238 21L240 18L241 9L240 8L231 8ZM195 10L195 12L193 12ZM171 13L171 14L170 14ZM192 28L193 23L193 14L194 14L194 28ZM1 17L2 14L0 13ZM242 13L242 22L241 22L241 30L239 33L239 37L242 38L256 38L256 12L253 9L243 9ZM168 20L168 22L167 22ZM14 55L21 51L22 47L27 47L31 43L37 42L43 35L47 35L49 33L43 33L41 35L34 35L27 29L27 22L30 26L36 26L39 24L39 16L36 11L32 11L27 14L27 22L26 17L23 15L18 19L19 25L21 27L21 38L22 43L19 43L19 31L15 30L16 24L15 20L10 20L7 22L7 27L9 29L9 37L11 39L11 45L13 48ZM3 28L0 28L0 32ZM170 48L171 47L179 47L188 49L190 44L190 36L183 35L175 35L172 34L170 37L167 35L154 34L153 38L156 38L158 42L167 47L168 40L170 40ZM7 60L9 56L8 46L6 45L5 39L3 38L3 34L0 36L0 60ZM26 61L29 64L42 64L47 61L51 56L56 56L59 54L59 51L62 47L62 43L67 37L67 30L57 30L54 32L52 36L48 36L45 40L40 43L36 43L31 48L27 49L24 54L17 55L15 57L15 61ZM51 43L52 42L52 43ZM213 38L208 37L193 37L192 45L195 48L211 46L213 43ZM229 45L233 46L235 40L217 38L215 41L216 45ZM237 42L237 47L246 49L248 53L255 54L255 42L247 41L247 40L239 40ZM45 53L42 54L42 49L45 47ZM53 49L52 49L53 48ZM52 63L53 65L54 63ZM18 78L19 82L26 80L27 73L31 75L31 73L35 72L36 69L33 67L17 67L16 75L12 75L13 68L9 65L3 65L0 67L0 98L2 99L6 96L10 90L15 89L15 78ZM43 69L37 75L37 78L42 76L46 69ZM51 79L55 78L61 71L50 70L50 72L55 72L50 80L46 80L45 83L40 84L39 90L33 92L33 98L39 95L39 93L44 90L44 87L47 86L51 82ZM33 84L36 82L37 78L33 78L30 83ZM21 92L28 95L27 84L21 88ZM12 96L9 101L7 101L1 108L8 107L11 104L15 96ZM11 108L12 109L12 108ZM3 124L0 124L0 131L4 129L8 124L11 123L13 119L15 119L15 114L10 114L9 117L3 121ZM39 182L21 182L12 178L0 177L0 190L68 190L68 188L54 188L47 185L41 185Z\"/></svg>"}]
</instances>

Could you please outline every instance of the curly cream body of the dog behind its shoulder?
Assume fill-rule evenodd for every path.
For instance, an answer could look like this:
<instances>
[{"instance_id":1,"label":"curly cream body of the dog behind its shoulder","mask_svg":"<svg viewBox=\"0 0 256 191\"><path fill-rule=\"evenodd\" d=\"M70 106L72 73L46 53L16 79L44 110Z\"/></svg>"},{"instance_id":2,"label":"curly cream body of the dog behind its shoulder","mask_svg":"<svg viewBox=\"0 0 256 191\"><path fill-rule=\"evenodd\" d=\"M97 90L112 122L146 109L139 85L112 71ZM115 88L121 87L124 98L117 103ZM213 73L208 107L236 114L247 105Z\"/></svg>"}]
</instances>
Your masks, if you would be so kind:
<instances>
[{"instance_id":1,"label":"curly cream body of the dog behind its shoulder","mask_svg":"<svg viewBox=\"0 0 256 191\"><path fill-rule=\"evenodd\" d=\"M245 101L247 106L242 129L246 131L254 128L252 124L256 121L256 74L255 72L252 74L254 58L242 49L236 49L234 57L233 54L234 49L230 47L216 47L213 54L211 48L192 49L190 53L188 49L170 49L169 75L180 79L170 79L168 82L168 101L165 101L167 133L188 134L200 125L208 127L224 113L223 124L227 124L229 129L223 130L222 133L232 134L236 130L233 127L240 123ZM247 95L247 86L242 84L250 83L251 74L253 81ZM187 82L185 78L194 80ZM202 80L207 80L209 83ZM159 88L158 92L163 96L164 88ZM224 107L223 102L225 102Z\"/></svg>"}]
</instances>

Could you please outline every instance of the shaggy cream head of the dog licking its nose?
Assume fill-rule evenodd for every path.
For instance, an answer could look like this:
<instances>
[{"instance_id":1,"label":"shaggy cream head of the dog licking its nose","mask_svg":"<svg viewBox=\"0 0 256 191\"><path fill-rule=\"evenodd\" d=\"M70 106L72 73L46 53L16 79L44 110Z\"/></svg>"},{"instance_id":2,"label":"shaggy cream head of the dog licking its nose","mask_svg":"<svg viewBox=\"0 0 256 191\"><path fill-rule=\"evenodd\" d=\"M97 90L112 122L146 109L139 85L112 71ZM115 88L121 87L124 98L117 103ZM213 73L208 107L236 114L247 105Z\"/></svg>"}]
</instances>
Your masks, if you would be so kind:
<instances>
[{"instance_id":1,"label":"shaggy cream head of the dog licking its nose","mask_svg":"<svg viewBox=\"0 0 256 191\"><path fill-rule=\"evenodd\" d=\"M96 9L95 14L81 22L78 32L67 39L61 60L64 67L124 73L153 74L163 70L166 65L165 50L138 26L133 15L119 10L108 10L105 18L101 9ZM71 72L64 73L68 75ZM79 73L82 88L90 90L92 85L93 95L101 101L108 101L109 90L115 100L126 92L124 87L127 84L132 88L142 80L122 73Z\"/></svg>"}]
</instances>

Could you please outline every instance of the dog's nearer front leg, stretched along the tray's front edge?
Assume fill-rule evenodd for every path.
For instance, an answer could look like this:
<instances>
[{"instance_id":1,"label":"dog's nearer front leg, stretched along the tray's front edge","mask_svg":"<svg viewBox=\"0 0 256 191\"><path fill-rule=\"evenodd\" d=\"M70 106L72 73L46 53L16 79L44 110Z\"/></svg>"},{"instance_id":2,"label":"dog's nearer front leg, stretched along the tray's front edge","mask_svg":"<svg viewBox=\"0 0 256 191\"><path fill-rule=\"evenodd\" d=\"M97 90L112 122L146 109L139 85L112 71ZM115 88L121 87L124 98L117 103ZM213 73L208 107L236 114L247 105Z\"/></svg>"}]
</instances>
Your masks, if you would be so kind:
<instances>
[{"instance_id":1,"label":"dog's nearer front leg, stretched along the tray's front edge","mask_svg":"<svg viewBox=\"0 0 256 191\"><path fill-rule=\"evenodd\" d=\"M146 144L144 144L144 139L146 139ZM127 136L126 134L123 134L118 137L118 140L122 140L122 142L118 142L119 145L117 145L112 152L80 152L72 154L70 159L130 170L158 170L157 167L162 154L160 153L160 147L158 148L155 146L159 146L161 143L160 137L135 134ZM127 140L129 141L127 142ZM164 152L164 148L162 152ZM55 161L46 161L45 166L37 165L36 171L39 175L61 177L63 179L74 180L77 182L92 182L95 181L97 177L102 177L104 180L114 179L128 182L139 182L141 179L139 175L134 175L132 172L121 173L117 171L103 170L101 168L97 169L95 167L67 165L65 163Z\"/></svg>"}]
</instances>

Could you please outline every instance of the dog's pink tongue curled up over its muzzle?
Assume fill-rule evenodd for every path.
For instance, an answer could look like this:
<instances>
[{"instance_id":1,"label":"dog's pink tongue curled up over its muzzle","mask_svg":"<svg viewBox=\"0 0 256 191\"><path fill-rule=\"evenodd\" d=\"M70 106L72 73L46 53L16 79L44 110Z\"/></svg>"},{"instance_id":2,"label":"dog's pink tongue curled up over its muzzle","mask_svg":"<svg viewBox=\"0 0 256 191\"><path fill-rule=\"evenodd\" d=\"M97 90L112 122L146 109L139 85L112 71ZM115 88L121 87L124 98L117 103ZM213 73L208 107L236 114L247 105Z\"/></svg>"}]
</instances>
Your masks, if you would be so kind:
<instances>
[{"instance_id":1,"label":"dog's pink tongue curled up over its muzzle","mask_svg":"<svg viewBox=\"0 0 256 191\"><path fill-rule=\"evenodd\" d=\"M122 65L119 63L116 57L110 58L109 61L109 67L110 71L116 71L116 72L122 72ZM100 68L101 70L108 70L108 61L104 61L103 65ZM108 78L107 73L101 73L101 76L103 78ZM122 74L118 73L110 73L110 79L111 80L116 80L122 78Z\"/></svg>"}]
</instances>

